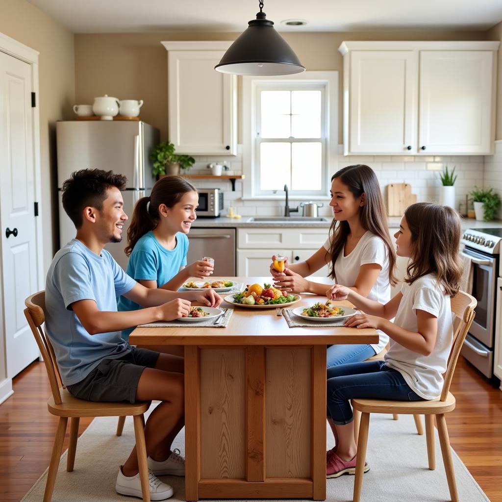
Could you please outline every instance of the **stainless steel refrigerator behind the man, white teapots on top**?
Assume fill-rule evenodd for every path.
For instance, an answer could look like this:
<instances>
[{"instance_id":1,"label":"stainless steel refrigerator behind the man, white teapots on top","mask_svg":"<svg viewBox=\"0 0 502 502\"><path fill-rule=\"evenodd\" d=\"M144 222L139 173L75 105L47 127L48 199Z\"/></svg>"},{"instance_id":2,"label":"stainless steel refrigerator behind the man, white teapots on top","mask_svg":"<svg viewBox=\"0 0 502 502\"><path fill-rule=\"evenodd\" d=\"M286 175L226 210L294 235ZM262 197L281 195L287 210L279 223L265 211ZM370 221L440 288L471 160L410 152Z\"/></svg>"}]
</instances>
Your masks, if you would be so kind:
<instances>
[{"instance_id":1,"label":"stainless steel refrigerator behind the man, white teapots on top","mask_svg":"<svg viewBox=\"0 0 502 502\"><path fill-rule=\"evenodd\" d=\"M128 257L127 228L138 199L150 195L155 178L152 175L150 153L159 142L159 131L139 120L72 120L56 124L59 244L75 237L75 226L62 205L61 187L73 171L104 169L127 176L127 188L122 192L124 211L129 220L124 225L122 242L109 243L106 249L125 270Z\"/></svg>"}]
</instances>

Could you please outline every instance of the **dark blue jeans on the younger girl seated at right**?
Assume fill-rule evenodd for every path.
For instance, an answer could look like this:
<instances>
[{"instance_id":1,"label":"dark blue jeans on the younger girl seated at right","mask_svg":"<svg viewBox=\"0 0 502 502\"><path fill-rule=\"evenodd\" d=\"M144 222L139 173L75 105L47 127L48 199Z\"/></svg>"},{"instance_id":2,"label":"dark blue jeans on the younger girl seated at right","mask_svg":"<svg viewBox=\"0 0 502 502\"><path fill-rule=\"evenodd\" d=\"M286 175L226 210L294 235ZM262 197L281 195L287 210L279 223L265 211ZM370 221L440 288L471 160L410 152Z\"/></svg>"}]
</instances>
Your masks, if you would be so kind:
<instances>
[{"instance_id":1,"label":"dark blue jeans on the younger girl seated at right","mask_svg":"<svg viewBox=\"0 0 502 502\"><path fill-rule=\"evenodd\" d=\"M336 425L354 419L352 398L391 399L394 401L424 401L415 394L396 369L384 361L354 362L328 368L328 417Z\"/></svg>"}]
</instances>

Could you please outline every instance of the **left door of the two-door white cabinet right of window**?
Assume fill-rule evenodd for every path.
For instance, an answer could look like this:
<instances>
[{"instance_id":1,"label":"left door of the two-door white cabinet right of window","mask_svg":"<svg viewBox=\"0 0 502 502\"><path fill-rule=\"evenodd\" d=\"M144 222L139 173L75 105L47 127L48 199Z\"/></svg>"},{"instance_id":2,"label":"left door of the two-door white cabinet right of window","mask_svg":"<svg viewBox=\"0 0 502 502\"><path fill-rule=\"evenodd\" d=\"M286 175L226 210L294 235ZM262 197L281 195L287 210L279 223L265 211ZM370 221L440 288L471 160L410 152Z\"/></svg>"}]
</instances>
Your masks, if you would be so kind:
<instances>
[{"instance_id":1,"label":"left door of the two-door white cabinet right of window","mask_svg":"<svg viewBox=\"0 0 502 502\"><path fill-rule=\"evenodd\" d=\"M348 116L345 113L349 123L344 124L349 152L345 153L416 151L417 70L414 51L350 54Z\"/></svg>"}]
</instances>

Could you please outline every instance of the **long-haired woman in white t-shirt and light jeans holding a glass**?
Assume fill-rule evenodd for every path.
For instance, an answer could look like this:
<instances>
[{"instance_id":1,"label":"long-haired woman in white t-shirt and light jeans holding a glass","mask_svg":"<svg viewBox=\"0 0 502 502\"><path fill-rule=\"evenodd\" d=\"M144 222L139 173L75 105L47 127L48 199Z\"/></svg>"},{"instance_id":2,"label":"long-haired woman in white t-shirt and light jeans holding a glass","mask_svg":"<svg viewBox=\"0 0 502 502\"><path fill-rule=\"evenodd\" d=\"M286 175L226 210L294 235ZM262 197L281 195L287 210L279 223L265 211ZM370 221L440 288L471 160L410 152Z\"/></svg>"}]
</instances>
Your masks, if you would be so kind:
<instances>
[{"instance_id":1,"label":"long-haired woman in white t-shirt and light jeans holding a glass","mask_svg":"<svg viewBox=\"0 0 502 502\"><path fill-rule=\"evenodd\" d=\"M324 295L326 285L305 279L326 264L330 277L337 284L348 286L356 293L375 302L391 299L394 285L396 255L386 223L386 212L380 185L368 166L347 166L331 178L331 206L334 214L329 237L324 245L305 262L289 265L279 273L271 265L275 286L296 293ZM275 256L272 257L272 261ZM380 332L379 343L331 345L327 366L364 361L378 354L389 342Z\"/></svg>"}]
</instances>

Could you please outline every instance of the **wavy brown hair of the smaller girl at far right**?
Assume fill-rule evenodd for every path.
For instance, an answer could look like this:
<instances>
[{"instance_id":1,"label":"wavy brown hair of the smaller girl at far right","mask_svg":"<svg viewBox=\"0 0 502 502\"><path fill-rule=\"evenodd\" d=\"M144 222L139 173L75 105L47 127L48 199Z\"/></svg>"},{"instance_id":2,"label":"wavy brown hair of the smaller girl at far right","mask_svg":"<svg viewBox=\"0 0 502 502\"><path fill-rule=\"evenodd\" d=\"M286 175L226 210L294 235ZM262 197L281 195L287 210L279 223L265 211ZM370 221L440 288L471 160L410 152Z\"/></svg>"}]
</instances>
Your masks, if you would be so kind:
<instances>
[{"instance_id":1,"label":"wavy brown hair of the smaller girl at far right","mask_svg":"<svg viewBox=\"0 0 502 502\"><path fill-rule=\"evenodd\" d=\"M448 206L418 202L408 206L404 217L410 228L413 256L405 282L411 284L434 274L439 287L451 297L458 293L462 265L458 256L462 224Z\"/></svg>"}]
</instances>

